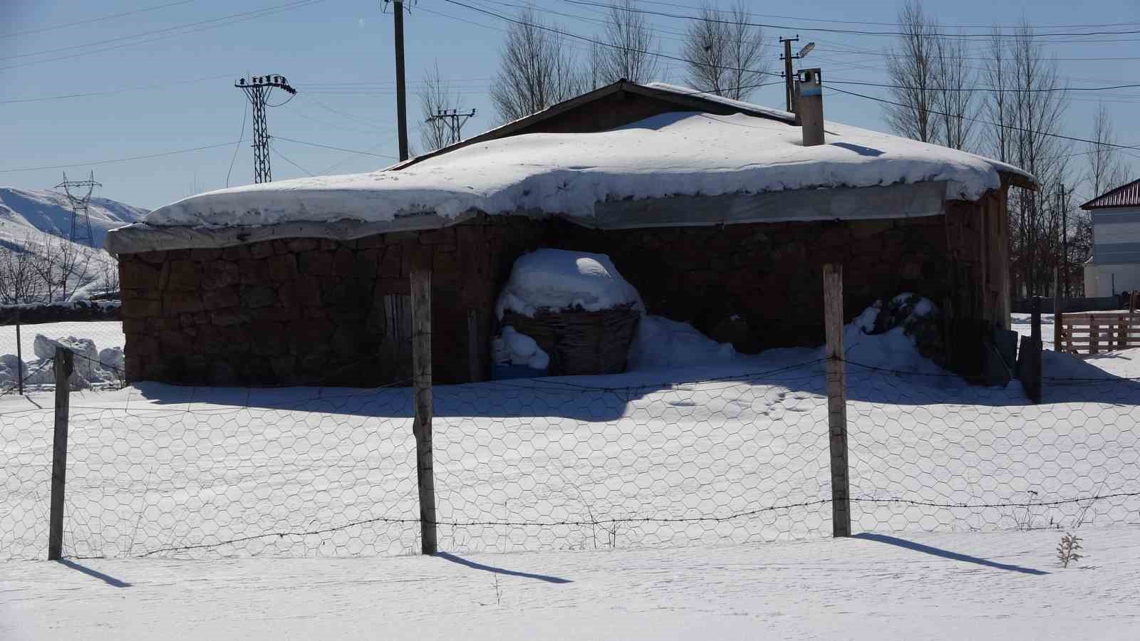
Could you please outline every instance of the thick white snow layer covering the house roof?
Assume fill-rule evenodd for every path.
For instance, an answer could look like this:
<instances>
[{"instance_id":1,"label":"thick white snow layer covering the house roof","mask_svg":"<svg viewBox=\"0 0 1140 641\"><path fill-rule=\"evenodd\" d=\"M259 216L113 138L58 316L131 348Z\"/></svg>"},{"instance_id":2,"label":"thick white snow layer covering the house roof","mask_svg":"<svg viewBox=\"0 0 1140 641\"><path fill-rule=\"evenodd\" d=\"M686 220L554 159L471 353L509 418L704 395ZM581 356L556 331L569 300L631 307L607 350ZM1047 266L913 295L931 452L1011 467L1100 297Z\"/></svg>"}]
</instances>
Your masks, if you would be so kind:
<instances>
[{"instance_id":1,"label":"thick white snow layer covering the house roof","mask_svg":"<svg viewBox=\"0 0 1140 641\"><path fill-rule=\"evenodd\" d=\"M826 123L825 145L804 147L800 128L785 122L677 112L609 131L489 140L399 171L210 192L161 208L146 222L391 221L425 213L454 218L472 210L588 219L597 203L614 200L921 181L945 181L947 198L976 200L1000 185L999 171L1024 175L974 154L838 123Z\"/></svg>"}]
</instances>

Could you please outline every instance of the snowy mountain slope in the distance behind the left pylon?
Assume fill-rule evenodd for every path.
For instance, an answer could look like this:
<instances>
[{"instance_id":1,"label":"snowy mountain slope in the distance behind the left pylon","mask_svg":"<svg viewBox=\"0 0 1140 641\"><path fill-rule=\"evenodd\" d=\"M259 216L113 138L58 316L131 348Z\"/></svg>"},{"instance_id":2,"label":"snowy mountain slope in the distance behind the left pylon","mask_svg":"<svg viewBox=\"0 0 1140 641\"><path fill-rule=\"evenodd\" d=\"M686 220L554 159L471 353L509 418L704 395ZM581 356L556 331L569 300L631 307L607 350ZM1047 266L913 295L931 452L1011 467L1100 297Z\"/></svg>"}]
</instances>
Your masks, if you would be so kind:
<instances>
[{"instance_id":1,"label":"snowy mountain slope in the distance behind the left pylon","mask_svg":"<svg viewBox=\"0 0 1140 641\"><path fill-rule=\"evenodd\" d=\"M91 198L91 235L103 248L108 229L140 220L148 212L111 198ZM0 187L0 243L11 246L28 233L40 232L66 238L71 233L71 203L63 192ZM39 234L31 234L42 241ZM23 243L19 243L21 246Z\"/></svg>"}]
</instances>

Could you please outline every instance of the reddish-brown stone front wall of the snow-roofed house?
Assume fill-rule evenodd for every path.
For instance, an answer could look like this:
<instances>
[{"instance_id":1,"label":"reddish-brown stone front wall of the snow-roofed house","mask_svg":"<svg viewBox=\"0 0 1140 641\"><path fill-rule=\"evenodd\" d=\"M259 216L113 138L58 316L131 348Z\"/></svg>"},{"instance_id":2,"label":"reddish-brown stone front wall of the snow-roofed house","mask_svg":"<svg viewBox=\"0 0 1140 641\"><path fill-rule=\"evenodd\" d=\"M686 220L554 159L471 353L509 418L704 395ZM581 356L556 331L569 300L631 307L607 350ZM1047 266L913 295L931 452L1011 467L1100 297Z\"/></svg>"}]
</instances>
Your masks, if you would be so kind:
<instances>
[{"instance_id":1,"label":"reddish-brown stone front wall of the snow-roofed house","mask_svg":"<svg viewBox=\"0 0 1140 641\"><path fill-rule=\"evenodd\" d=\"M955 216L970 214L959 205ZM878 298L979 298L978 257L947 252L945 217L598 232L561 219L481 217L353 242L294 238L122 257L128 378L209 384L377 386L405 381L414 245L430 246L439 382L483 380L495 299L539 246L609 254L651 314L740 351L823 342L822 265L845 265L845 313ZM955 246L982 248L970 225ZM971 234L974 234L971 236ZM954 253L951 257L950 253ZM972 262L971 262L972 261ZM956 276L955 276L956 274ZM956 303L958 309L967 306Z\"/></svg>"}]
</instances>

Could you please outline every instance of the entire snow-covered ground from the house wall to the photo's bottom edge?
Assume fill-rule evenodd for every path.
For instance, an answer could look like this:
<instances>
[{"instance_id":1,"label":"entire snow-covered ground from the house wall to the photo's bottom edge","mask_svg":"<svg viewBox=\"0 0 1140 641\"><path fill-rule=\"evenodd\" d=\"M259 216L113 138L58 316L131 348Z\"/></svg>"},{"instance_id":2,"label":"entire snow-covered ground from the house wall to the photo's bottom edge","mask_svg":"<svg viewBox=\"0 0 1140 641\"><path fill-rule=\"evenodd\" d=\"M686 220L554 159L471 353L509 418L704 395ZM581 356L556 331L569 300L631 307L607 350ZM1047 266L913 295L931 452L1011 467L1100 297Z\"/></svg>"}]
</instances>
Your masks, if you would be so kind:
<instances>
[{"instance_id":1,"label":"entire snow-covered ground from the house wall to the photo's bottom edge","mask_svg":"<svg viewBox=\"0 0 1140 641\"><path fill-rule=\"evenodd\" d=\"M437 558L408 389L74 393L72 559L0 561L0 638L1134 638L1140 349L1047 352L1042 405L852 365L848 539L821 357L437 387ZM52 422L0 397L13 559L43 555Z\"/></svg>"}]
</instances>

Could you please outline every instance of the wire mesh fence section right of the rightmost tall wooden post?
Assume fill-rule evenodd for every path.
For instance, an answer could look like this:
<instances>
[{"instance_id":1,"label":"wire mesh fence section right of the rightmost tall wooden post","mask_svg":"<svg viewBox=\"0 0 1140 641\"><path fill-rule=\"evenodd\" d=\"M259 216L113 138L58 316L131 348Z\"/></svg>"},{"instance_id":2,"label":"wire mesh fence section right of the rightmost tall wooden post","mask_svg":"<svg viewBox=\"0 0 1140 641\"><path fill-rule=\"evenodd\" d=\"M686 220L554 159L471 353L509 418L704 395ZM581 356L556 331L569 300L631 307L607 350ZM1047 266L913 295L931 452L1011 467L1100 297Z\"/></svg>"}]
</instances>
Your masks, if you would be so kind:
<instances>
[{"instance_id":1,"label":"wire mesh fence section right of the rightmost tall wooden post","mask_svg":"<svg viewBox=\"0 0 1140 641\"><path fill-rule=\"evenodd\" d=\"M923 379L927 379L923 381ZM856 530L978 532L1140 521L1140 382L1010 388L848 363Z\"/></svg>"}]
</instances>

